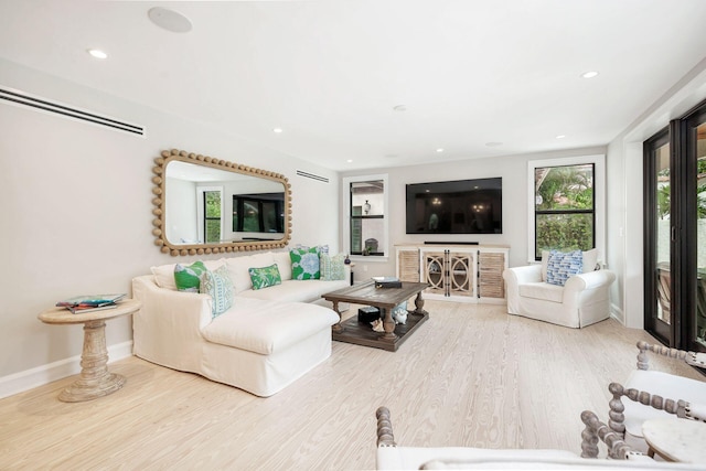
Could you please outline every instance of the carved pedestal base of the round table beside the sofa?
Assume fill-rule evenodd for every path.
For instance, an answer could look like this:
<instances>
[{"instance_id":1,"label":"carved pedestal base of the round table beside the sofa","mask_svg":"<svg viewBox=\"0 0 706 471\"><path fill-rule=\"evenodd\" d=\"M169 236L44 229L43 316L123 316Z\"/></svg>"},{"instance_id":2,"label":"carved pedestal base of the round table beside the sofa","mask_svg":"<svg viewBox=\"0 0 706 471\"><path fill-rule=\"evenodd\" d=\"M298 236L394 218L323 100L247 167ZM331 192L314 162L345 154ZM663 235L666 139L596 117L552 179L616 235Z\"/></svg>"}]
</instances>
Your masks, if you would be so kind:
<instances>
[{"instance_id":1,"label":"carved pedestal base of the round table beside the sofa","mask_svg":"<svg viewBox=\"0 0 706 471\"><path fill-rule=\"evenodd\" d=\"M125 376L108 373L108 350L106 349L106 323L103 320L84 324L84 351L81 354L79 378L64 389L58 399L64 403L79 403L107 396L120 389Z\"/></svg>"}]
</instances>

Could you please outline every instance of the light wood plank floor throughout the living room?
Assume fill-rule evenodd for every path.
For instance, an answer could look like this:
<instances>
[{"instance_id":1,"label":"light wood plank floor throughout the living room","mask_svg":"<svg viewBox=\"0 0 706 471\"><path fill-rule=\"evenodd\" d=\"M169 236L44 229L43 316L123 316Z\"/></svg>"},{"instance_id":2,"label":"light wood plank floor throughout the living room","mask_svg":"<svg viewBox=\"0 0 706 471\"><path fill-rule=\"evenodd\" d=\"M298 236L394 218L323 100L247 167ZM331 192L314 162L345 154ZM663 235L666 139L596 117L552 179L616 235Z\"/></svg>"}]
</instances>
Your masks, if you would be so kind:
<instances>
[{"instance_id":1,"label":"light wood plank floor throughout the living room","mask_svg":"<svg viewBox=\"0 0 706 471\"><path fill-rule=\"evenodd\" d=\"M126 386L97 400L58 402L73 378L2 399L0 469L373 469L381 405L402 446L578 453L579 414L606 420L608 384L635 367L638 340L653 341L613 320L573 330L503 306L425 308L431 319L397 352L333 342L269 398L131 357L110 364Z\"/></svg>"}]
</instances>

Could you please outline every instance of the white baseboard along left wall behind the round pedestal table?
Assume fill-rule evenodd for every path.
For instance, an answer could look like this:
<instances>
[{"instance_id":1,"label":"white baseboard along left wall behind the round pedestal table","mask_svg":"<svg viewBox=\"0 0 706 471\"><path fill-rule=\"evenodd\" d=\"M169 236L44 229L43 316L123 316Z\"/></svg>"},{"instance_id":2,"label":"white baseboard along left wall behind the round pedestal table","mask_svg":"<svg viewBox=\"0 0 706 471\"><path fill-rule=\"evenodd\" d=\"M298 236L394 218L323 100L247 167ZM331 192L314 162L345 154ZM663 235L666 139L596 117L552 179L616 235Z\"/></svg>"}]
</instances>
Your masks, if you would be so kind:
<instances>
[{"instance_id":1,"label":"white baseboard along left wall behind the round pedestal table","mask_svg":"<svg viewBox=\"0 0 706 471\"><path fill-rule=\"evenodd\" d=\"M108 363L132 356L132 341L108 346ZM0 399L81 373L81 355L0 377Z\"/></svg>"}]
</instances>

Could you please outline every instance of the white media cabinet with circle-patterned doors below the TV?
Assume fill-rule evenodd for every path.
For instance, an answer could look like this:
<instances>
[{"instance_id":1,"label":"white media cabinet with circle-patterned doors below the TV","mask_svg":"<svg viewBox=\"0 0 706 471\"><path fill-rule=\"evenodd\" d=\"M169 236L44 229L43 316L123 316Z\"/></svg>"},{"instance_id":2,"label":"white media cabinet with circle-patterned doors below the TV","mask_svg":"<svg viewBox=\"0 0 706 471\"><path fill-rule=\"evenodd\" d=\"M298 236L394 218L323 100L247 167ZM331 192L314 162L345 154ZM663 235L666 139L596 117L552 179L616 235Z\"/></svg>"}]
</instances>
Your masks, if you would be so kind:
<instances>
[{"instance_id":1,"label":"white media cabinet with circle-patterned doors below the TV","mask_svg":"<svg viewBox=\"0 0 706 471\"><path fill-rule=\"evenodd\" d=\"M502 245L397 245L397 277L429 283L428 299L505 303L509 254Z\"/></svg>"}]
</instances>

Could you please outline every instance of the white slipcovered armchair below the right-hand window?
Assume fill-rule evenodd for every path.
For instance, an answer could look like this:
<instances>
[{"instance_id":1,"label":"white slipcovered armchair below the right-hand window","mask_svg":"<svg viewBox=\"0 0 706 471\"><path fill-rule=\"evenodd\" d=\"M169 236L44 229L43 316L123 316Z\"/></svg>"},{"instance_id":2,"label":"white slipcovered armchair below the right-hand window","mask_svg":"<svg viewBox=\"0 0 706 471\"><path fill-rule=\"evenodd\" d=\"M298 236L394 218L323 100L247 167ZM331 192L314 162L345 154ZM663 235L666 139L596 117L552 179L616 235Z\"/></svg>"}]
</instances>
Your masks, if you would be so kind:
<instances>
[{"instance_id":1,"label":"white slipcovered armchair below the right-hand window","mask_svg":"<svg viewBox=\"0 0 706 471\"><path fill-rule=\"evenodd\" d=\"M538 264L507 268L503 278L510 314L567 328L584 328L610 315L609 288L616 280L610 270L574 275L564 286L546 282Z\"/></svg>"}]
</instances>

